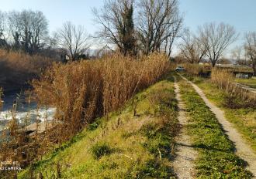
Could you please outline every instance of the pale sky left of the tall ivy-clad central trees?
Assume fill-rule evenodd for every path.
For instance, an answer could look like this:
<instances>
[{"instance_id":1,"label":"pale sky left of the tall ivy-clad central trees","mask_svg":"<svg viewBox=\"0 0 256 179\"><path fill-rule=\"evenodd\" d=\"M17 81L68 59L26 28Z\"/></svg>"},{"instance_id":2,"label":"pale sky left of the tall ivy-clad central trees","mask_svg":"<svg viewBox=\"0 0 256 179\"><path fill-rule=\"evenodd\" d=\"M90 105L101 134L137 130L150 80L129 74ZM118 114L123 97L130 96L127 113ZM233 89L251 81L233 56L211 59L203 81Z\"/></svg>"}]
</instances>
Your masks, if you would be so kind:
<instances>
[{"instance_id":1,"label":"pale sky left of the tall ivy-clad central trees","mask_svg":"<svg viewBox=\"0 0 256 179\"><path fill-rule=\"evenodd\" d=\"M92 8L103 5L103 0L0 0L1 11L40 10L47 17L50 32L66 21L84 25L89 33L95 32Z\"/></svg>"}]
</instances>

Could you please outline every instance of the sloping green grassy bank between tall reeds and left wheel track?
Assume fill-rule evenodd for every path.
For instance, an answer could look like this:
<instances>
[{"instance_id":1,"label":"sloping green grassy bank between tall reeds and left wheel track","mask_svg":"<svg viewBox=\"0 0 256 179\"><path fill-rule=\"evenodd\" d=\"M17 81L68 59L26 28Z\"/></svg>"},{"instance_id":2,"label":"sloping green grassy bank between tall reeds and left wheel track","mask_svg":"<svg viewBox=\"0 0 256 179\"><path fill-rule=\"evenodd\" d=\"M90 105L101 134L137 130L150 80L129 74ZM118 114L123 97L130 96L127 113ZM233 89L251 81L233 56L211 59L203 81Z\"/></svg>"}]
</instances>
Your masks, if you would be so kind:
<instances>
[{"instance_id":1,"label":"sloping green grassy bank between tall reeds and left wheel track","mask_svg":"<svg viewBox=\"0 0 256 179\"><path fill-rule=\"evenodd\" d=\"M133 97L18 178L173 178L178 108L169 77Z\"/></svg>"}]
</instances>

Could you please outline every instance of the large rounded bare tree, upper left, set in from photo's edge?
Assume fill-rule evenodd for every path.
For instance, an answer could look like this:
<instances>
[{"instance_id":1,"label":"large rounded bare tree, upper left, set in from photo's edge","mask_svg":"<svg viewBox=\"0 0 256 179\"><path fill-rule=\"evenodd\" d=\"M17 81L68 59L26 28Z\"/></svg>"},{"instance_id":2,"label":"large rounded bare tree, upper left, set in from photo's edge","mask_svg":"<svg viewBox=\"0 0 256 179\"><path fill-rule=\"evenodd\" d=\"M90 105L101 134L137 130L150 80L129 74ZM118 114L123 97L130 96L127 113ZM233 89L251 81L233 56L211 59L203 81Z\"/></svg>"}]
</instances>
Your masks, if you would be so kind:
<instances>
[{"instance_id":1,"label":"large rounded bare tree, upper left, set in from photo's edge","mask_svg":"<svg viewBox=\"0 0 256 179\"><path fill-rule=\"evenodd\" d=\"M48 35L48 22L40 11L14 11L9 13L9 29L14 49L23 49L32 54L43 48Z\"/></svg>"}]
</instances>

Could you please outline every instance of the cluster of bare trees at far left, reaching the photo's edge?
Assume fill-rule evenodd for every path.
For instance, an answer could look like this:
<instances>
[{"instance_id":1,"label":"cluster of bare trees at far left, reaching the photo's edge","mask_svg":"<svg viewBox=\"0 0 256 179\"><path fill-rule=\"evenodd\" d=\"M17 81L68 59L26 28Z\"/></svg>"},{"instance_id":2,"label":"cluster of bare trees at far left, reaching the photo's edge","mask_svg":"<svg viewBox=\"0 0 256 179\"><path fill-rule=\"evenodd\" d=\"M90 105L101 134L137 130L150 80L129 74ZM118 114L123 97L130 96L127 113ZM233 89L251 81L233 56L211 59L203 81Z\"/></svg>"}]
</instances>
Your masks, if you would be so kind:
<instances>
[{"instance_id":1,"label":"cluster of bare trees at far left, reaching the photo's edge","mask_svg":"<svg viewBox=\"0 0 256 179\"><path fill-rule=\"evenodd\" d=\"M43 12L0 12L0 46L29 54L46 46L48 22Z\"/></svg>"}]
</instances>

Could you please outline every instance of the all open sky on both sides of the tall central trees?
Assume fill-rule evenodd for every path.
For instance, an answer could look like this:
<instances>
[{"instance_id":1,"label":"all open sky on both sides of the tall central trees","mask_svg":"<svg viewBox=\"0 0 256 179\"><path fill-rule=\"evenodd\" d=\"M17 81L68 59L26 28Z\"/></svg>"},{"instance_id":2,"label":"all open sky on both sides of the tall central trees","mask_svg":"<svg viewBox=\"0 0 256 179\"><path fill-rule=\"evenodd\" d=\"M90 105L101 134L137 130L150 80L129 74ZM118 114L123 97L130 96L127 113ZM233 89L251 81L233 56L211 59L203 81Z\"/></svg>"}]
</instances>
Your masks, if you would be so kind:
<instances>
[{"instance_id":1,"label":"all open sky on both sides of the tall central trees","mask_svg":"<svg viewBox=\"0 0 256 179\"><path fill-rule=\"evenodd\" d=\"M161 1L161 0L160 0ZM0 0L0 10L40 10L47 17L50 32L66 21L84 25L93 34L97 25L92 8L100 8L104 0ZM234 25L240 38L230 48L243 43L244 32L256 31L256 0L179 0L185 27L196 32L206 22L225 22Z\"/></svg>"}]
</instances>

